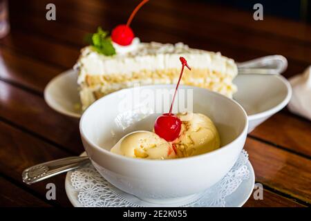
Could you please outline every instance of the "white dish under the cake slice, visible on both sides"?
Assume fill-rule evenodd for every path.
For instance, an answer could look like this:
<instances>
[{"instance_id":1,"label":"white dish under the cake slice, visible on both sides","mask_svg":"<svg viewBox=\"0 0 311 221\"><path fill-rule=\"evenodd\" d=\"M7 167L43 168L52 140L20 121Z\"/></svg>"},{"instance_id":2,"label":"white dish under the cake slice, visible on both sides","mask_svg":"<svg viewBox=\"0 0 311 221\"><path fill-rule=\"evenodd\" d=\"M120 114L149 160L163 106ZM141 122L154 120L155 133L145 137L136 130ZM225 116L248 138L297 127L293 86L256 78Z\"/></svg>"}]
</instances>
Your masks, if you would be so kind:
<instances>
[{"instance_id":1,"label":"white dish under the cake slice, visible on both sides","mask_svg":"<svg viewBox=\"0 0 311 221\"><path fill-rule=\"evenodd\" d=\"M284 108L292 96L289 82L281 75L238 75L234 99L243 106L249 119L249 132ZM67 70L53 78L44 90L44 99L55 111L81 117L77 72Z\"/></svg>"}]
</instances>

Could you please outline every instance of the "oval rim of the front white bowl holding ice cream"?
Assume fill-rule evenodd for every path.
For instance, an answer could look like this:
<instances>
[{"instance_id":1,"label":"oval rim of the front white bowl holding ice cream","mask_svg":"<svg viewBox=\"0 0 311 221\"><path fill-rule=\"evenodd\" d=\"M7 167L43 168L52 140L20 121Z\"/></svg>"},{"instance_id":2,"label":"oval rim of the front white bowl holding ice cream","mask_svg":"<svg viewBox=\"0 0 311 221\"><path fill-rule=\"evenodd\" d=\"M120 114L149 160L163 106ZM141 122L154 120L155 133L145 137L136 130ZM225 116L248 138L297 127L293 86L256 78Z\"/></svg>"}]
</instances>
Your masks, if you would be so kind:
<instances>
[{"instance_id":1,"label":"oval rim of the front white bowl holding ice cream","mask_svg":"<svg viewBox=\"0 0 311 221\"><path fill-rule=\"evenodd\" d=\"M140 88L150 88L150 87L157 87L157 88L160 88L160 87L163 87L163 86L175 86L174 84L157 84L157 85L149 85L149 86L140 86ZM79 131L80 131L80 135L81 137L86 141L88 142L88 144L90 144L90 146L93 146L93 148L96 148L98 151L104 153L104 154L107 154L113 158L116 158L116 159L120 159L120 160L125 160L127 162L133 162L133 163L138 163L138 162L142 162L142 163L146 163L146 164L169 164L169 163L173 163L173 162L191 162L191 161L194 161L194 160L197 160L197 159L200 159L202 157L207 157L209 155L214 155L220 151L224 151L224 149L226 148L229 148L229 146L232 146L232 144L234 144L235 142L238 142L238 140L240 140L240 138L245 134L247 135L247 130L248 130L248 119L247 119L247 113L245 112L244 108L238 104L238 102L236 102L234 99L230 99L229 97L226 97L225 95L221 95L220 93L216 93L214 91L211 91L211 90L208 90L208 89L205 89L205 88L199 88L199 87L196 87L196 86L185 86L185 85L181 85L180 86L181 88L198 88L198 90L207 90L208 93L213 93L214 95L220 97L220 99L227 99L229 102L232 102L234 104L236 104L238 106L238 108L241 109L242 113L243 113L243 116L244 116L244 121L245 121L245 124L244 124L244 128L243 128L243 131L234 139L232 140L232 142L229 142L228 144L226 144L225 146L221 146L220 148L214 150L214 151L211 151L209 153L203 153L203 154L200 154L200 155L196 155L196 156L192 156L192 157L182 157L182 158L177 158L177 159L166 159L166 160L151 160L151 159L138 159L138 158L133 158L133 157L126 157L124 155L118 155L116 153L111 153L111 151L108 151L106 150L105 148L102 148L100 146L98 146L97 144L94 144L94 142L92 142L91 140L88 139L88 137L86 137L86 135L84 135L84 132L83 132L83 129L82 129L82 124L84 122L84 117L85 117L85 113L87 113L88 111L91 110L92 106L95 106L97 104L97 102L100 102L100 100L102 99L105 99L105 97L109 97L111 95L114 95L115 93L120 93L121 91L124 91L124 90L133 90L133 88L124 88L122 90L117 90L109 95L106 95L100 99L97 99L97 101L95 101L93 104L91 104L91 106L89 106L86 111L84 111L80 121L79 121Z\"/></svg>"}]
</instances>

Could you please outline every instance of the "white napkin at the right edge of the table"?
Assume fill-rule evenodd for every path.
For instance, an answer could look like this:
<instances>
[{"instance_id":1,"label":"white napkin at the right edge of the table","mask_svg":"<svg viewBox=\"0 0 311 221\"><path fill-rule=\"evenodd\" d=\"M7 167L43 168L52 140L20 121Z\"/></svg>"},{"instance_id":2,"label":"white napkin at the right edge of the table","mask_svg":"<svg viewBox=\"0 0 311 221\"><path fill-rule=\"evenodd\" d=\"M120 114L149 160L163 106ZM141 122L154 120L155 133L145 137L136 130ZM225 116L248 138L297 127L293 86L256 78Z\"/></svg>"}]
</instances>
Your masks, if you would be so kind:
<instances>
[{"instance_id":1,"label":"white napkin at the right edge of the table","mask_svg":"<svg viewBox=\"0 0 311 221\"><path fill-rule=\"evenodd\" d=\"M288 108L292 113L311 120L311 66L301 75L290 78L292 99Z\"/></svg>"}]
</instances>

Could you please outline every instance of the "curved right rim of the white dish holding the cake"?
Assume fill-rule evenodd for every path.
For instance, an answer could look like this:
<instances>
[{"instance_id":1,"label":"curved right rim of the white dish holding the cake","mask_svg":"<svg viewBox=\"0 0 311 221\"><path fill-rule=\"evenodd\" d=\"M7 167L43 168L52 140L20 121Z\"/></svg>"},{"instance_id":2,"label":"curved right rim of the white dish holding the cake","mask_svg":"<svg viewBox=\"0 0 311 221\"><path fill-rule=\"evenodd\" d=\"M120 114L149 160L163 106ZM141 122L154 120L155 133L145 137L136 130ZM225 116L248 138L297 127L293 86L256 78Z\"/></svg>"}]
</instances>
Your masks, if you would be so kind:
<instances>
[{"instance_id":1,"label":"curved right rim of the white dish holding the cake","mask_svg":"<svg viewBox=\"0 0 311 221\"><path fill-rule=\"evenodd\" d=\"M288 92L287 95L285 96L282 102L280 102L273 108L270 108L267 111L255 113L253 115L248 115L249 120L255 120L255 119L260 119L263 117L268 117L270 115L274 115L274 113L280 111L282 108L284 108L288 104L288 102L290 102L290 98L292 97L292 86L290 86L290 82L288 82L288 80L285 79L285 77L283 77L282 75L274 75L274 76L276 77L276 79L279 79L285 85L285 87L287 88L287 92Z\"/></svg>"}]
</instances>

